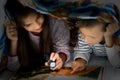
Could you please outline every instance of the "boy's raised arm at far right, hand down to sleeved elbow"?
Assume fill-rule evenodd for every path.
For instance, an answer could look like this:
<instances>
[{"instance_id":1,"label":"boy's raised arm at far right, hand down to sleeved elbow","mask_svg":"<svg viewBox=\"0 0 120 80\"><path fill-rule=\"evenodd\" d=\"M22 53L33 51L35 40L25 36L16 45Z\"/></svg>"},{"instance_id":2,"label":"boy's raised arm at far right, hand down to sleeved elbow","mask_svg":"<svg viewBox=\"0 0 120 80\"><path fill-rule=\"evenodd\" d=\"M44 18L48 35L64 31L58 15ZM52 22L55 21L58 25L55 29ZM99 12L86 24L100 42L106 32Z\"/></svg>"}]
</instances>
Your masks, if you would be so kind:
<instances>
[{"instance_id":1,"label":"boy's raised arm at far right, hand down to sleeved elbow","mask_svg":"<svg viewBox=\"0 0 120 80\"><path fill-rule=\"evenodd\" d=\"M115 47L115 43L113 41L113 35L117 30L119 30L119 26L116 23L112 23L107 27L105 33L107 56L114 67L120 66L119 50Z\"/></svg>"}]
</instances>

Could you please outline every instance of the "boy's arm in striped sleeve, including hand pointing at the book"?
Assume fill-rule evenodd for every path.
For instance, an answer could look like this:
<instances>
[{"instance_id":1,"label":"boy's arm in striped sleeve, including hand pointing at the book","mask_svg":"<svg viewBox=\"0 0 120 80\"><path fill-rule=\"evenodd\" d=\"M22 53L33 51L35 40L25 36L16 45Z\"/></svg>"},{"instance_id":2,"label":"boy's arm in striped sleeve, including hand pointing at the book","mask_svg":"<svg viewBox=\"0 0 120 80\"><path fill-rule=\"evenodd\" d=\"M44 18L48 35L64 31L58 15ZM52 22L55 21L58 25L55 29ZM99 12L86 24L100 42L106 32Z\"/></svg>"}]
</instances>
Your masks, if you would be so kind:
<instances>
[{"instance_id":1,"label":"boy's arm in striped sleeve, including hand pointing at the book","mask_svg":"<svg viewBox=\"0 0 120 80\"><path fill-rule=\"evenodd\" d=\"M81 36L78 36L78 42L74 48L74 61L71 63L71 73L82 71L86 68L91 52L90 46L82 40Z\"/></svg>"}]
</instances>

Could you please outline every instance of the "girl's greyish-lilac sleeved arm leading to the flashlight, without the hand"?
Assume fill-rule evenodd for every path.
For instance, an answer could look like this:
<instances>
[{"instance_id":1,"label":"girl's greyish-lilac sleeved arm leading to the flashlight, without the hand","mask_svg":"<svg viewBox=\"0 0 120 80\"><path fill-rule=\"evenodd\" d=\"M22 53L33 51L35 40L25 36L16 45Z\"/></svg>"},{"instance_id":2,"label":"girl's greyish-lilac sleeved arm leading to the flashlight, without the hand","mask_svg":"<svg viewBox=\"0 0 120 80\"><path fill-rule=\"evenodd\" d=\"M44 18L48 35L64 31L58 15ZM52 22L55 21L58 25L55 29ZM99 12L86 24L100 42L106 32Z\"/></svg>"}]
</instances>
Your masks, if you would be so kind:
<instances>
[{"instance_id":1,"label":"girl's greyish-lilac sleeved arm leading to the flashlight, without the hand","mask_svg":"<svg viewBox=\"0 0 120 80\"><path fill-rule=\"evenodd\" d=\"M67 28L66 23L60 20L56 20L52 28L54 28L52 33L54 50L56 53L59 53L60 56L61 56L61 53L62 53L62 56L65 55L66 59L63 60L65 63L70 59L70 52L69 52L70 32Z\"/></svg>"}]
</instances>

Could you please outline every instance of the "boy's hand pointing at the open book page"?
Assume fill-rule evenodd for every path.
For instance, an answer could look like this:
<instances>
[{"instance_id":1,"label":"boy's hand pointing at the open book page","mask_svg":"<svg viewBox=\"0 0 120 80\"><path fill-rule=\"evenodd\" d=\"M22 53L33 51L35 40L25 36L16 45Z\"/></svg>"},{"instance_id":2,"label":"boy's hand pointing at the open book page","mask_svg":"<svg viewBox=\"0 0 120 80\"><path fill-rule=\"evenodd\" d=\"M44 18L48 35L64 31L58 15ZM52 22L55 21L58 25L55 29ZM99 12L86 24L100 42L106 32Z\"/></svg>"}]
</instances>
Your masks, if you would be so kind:
<instances>
[{"instance_id":1,"label":"boy's hand pointing at the open book page","mask_svg":"<svg viewBox=\"0 0 120 80\"><path fill-rule=\"evenodd\" d=\"M86 61L81 58L77 59L71 63L71 68L72 68L71 73L82 71L86 68Z\"/></svg>"}]
</instances>

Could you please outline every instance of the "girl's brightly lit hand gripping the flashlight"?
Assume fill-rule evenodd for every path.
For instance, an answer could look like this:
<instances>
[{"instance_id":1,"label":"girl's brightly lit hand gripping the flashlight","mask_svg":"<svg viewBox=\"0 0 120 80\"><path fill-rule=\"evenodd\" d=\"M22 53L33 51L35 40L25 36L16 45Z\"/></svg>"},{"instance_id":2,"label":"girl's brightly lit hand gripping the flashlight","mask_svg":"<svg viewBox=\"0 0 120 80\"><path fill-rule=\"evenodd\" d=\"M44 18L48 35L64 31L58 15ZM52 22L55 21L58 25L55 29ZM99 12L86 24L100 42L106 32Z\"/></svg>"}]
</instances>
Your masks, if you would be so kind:
<instances>
[{"instance_id":1,"label":"girl's brightly lit hand gripping the flashlight","mask_svg":"<svg viewBox=\"0 0 120 80\"><path fill-rule=\"evenodd\" d=\"M54 68L51 68L52 70L60 69L64 64L64 60L60 57L58 53L52 52L50 55L50 60L56 63L56 66ZM48 63L45 63L45 65L48 66Z\"/></svg>"}]
</instances>

